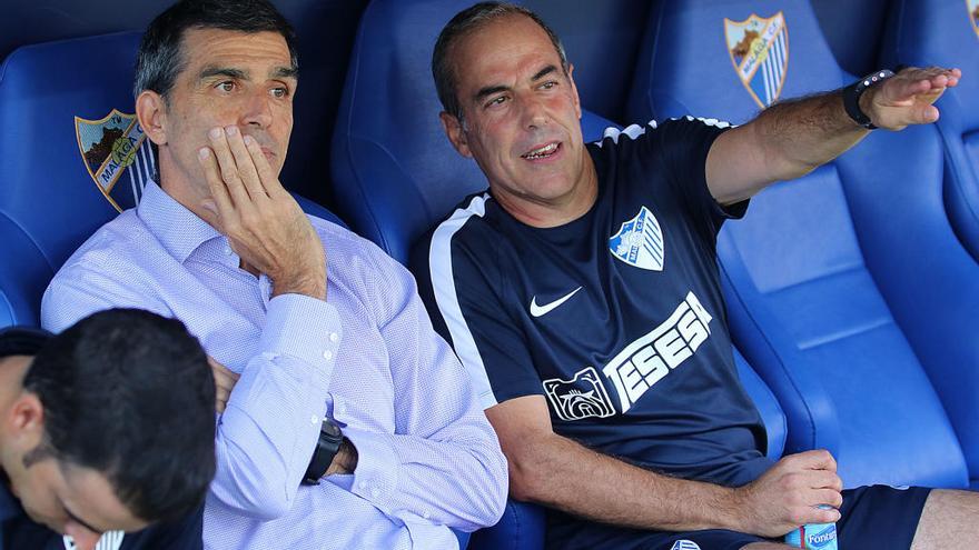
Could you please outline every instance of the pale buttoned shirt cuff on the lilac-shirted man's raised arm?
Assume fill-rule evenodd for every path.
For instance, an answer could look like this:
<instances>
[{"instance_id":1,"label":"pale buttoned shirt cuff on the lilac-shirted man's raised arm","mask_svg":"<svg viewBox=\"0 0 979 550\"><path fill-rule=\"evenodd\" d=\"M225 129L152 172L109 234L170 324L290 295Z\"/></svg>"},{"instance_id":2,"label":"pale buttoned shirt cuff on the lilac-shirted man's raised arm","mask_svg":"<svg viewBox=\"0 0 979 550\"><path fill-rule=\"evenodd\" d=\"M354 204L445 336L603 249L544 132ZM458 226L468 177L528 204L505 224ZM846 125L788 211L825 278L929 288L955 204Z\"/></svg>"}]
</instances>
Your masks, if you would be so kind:
<instances>
[{"instance_id":1,"label":"pale buttoned shirt cuff on the lilac-shirted man's raised arm","mask_svg":"<svg viewBox=\"0 0 979 550\"><path fill-rule=\"evenodd\" d=\"M343 326L337 309L328 302L303 294L281 294L268 302L259 352L288 356L313 366L301 380L329 387Z\"/></svg>"}]
</instances>

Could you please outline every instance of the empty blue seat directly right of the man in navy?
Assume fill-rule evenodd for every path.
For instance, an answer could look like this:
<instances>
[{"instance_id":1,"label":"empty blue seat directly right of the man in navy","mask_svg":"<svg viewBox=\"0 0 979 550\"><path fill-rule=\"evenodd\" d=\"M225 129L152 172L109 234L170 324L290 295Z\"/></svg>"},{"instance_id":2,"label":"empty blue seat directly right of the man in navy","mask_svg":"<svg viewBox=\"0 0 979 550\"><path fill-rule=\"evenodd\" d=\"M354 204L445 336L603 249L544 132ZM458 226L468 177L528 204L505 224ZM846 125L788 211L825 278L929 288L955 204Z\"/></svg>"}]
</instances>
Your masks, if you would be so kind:
<instances>
[{"instance_id":1,"label":"empty blue seat directly right of the man in navy","mask_svg":"<svg viewBox=\"0 0 979 550\"><path fill-rule=\"evenodd\" d=\"M647 30L634 121L740 123L778 98L851 81L808 2L662 1ZM943 222L941 161L932 127L874 132L760 193L719 237L732 333L785 411L787 450L829 449L847 487L968 484L934 371L922 366L977 364L979 270ZM914 317L904 316L911 303ZM938 338L933 347L972 348L971 359L930 354L918 331Z\"/></svg>"}]
</instances>

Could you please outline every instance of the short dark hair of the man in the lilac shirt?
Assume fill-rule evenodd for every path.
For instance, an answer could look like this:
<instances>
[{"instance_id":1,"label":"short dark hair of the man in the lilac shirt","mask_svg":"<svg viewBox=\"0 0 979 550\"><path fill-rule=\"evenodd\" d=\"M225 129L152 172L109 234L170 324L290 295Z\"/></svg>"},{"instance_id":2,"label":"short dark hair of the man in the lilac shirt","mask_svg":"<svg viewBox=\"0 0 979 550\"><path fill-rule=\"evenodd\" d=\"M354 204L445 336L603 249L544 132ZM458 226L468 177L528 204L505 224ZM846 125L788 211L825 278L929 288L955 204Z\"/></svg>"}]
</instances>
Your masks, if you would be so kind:
<instances>
[{"instance_id":1,"label":"short dark hair of the man in the lilac shirt","mask_svg":"<svg viewBox=\"0 0 979 550\"><path fill-rule=\"evenodd\" d=\"M296 33L267 0L180 0L149 23L136 54L134 97L144 90L165 101L184 70L182 40L188 29L221 29L240 32L278 32L286 39L293 69L299 69Z\"/></svg>"}]
</instances>

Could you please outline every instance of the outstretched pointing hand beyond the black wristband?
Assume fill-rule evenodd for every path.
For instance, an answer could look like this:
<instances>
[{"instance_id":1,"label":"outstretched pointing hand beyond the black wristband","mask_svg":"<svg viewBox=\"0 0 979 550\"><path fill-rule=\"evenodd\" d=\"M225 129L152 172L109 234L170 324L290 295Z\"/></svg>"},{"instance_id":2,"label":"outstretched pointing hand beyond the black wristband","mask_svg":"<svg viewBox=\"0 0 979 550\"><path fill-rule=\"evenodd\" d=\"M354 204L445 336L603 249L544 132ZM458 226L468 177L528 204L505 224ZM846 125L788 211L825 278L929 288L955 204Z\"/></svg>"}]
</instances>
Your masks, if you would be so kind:
<instances>
[{"instance_id":1,"label":"outstretched pointing hand beyond the black wristband","mask_svg":"<svg viewBox=\"0 0 979 550\"><path fill-rule=\"evenodd\" d=\"M958 86L960 78L959 69L909 67L863 93L860 108L877 127L888 130L928 124L939 117L932 103L946 88Z\"/></svg>"}]
</instances>

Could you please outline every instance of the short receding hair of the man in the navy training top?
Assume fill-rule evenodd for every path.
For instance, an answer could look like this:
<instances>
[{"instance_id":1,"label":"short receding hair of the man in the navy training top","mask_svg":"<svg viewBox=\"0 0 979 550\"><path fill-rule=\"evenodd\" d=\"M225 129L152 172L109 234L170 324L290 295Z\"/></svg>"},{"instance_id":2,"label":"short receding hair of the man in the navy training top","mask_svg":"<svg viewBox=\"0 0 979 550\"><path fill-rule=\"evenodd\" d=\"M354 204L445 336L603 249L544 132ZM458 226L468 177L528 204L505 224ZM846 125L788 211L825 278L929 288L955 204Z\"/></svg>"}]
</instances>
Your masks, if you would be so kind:
<instances>
[{"instance_id":1,"label":"short receding hair of the man in the navy training top","mask_svg":"<svg viewBox=\"0 0 979 550\"><path fill-rule=\"evenodd\" d=\"M507 16L525 16L531 18L535 23L544 29L554 50L561 58L561 68L567 74L567 56L564 53L564 46L557 34L547 27L533 11L508 2L479 2L471 8L455 14L452 20L445 24L435 41L435 50L432 52L432 78L435 79L435 89L438 91L438 100L442 101L442 108L445 112L452 114L458 120L463 119L462 107L459 106L456 90L455 67L448 54L455 43L466 34L477 30L485 24Z\"/></svg>"}]
</instances>

